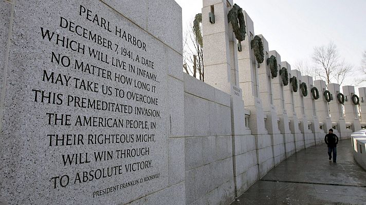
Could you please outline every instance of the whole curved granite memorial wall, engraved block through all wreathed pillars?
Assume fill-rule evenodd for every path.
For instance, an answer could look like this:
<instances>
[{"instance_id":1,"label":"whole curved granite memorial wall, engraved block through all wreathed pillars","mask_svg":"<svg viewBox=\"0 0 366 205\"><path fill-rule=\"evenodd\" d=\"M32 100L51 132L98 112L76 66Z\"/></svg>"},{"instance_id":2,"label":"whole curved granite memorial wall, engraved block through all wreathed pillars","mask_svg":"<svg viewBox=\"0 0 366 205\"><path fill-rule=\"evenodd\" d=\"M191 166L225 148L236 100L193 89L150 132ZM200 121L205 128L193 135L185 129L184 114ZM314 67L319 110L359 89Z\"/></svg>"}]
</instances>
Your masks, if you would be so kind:
<instances>
[{"instance_id":1,"label":"whole curved granite memorial wall, engraved block through all wreathed pillars","mask_svg":"<svg viewBox=\"0 0 366 205\"><path fill-rule=\"evenodd\" d=\"M204 83L182 72L173 0L1 0L0 204L229 204L327 129L365 127L353 87L346 117L340 86L291 70L245 11L237 44L233 6L203 1Z\"/></svg>"}]
</instances>

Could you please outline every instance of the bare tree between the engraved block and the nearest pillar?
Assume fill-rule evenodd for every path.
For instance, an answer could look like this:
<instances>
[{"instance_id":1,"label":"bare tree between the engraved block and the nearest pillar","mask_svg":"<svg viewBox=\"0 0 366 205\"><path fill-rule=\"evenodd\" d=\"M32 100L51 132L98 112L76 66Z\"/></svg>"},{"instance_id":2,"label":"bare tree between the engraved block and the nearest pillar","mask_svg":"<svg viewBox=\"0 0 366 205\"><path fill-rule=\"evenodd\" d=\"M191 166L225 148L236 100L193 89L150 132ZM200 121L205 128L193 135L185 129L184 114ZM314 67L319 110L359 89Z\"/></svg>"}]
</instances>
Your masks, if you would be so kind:
<instances>
[{"instance_id":1,"label":"bare tree between the engraved block and the nearest pillar","mask_svg":"<svg viewBox=\"0 0 366 205\"><path fill-rule=\"evenodd\" d=\"M197 19L197 15L195 19ZM199 32L196 32L195 27L199 28ZM198 74L199 79L205 81L202 38L197 37L197 33L202 34L202 23L197 24L197 20L195 23L194 20L191 20L183 39L184 69L193 77L197 77Z\"/></svg>"}]
</instances>

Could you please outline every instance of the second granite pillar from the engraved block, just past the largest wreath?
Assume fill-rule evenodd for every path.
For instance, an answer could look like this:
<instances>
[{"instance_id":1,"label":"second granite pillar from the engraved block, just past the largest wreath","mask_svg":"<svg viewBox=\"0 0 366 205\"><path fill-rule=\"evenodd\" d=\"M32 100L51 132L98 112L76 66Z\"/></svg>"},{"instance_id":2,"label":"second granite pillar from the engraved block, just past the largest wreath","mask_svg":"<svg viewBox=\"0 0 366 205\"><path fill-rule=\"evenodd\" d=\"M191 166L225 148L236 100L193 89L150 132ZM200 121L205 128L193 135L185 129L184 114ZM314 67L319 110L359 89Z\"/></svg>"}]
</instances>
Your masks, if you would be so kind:
<instances>
[{"instance_id":1,"label":"second granite pillar from the engraved block, just past the largest wreath","mask_svg":"<svg viewBox=\"0 0 366 205\"><path fill-rule=\"evenodd\" d=\"M249 128L255 136L260 177L273 167L271 137L265 128L263 107L259 96L259 68L250 42L254 38L253 22L243 11L247 37L242 44L242 51L237 53L239 62L239 84L243 90L245 109L250 111ZM265 62L263 62L265 63Z\"/></svg>"}]
</instances>

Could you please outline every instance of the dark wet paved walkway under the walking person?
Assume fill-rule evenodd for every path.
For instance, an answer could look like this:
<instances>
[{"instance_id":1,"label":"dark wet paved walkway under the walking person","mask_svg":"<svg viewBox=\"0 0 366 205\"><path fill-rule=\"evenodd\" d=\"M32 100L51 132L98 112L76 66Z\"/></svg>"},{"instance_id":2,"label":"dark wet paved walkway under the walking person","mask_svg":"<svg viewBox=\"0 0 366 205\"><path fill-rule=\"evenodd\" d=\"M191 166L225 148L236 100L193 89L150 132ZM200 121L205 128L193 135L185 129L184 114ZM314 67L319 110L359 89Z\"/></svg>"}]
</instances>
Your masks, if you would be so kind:
<instances>
[{"instance_id":1,"label":"dark wet paved walkway under the walking person","mask_svg":"<svg viewBox=\"0 0 366 205\"><path fill-rule=\"evenodd\" d=\"M338 143L337 163L328 160L325 144L292 155L231 205L366 204L366 171L353 159L351 143Z\"/></svg>"}]
</instances>

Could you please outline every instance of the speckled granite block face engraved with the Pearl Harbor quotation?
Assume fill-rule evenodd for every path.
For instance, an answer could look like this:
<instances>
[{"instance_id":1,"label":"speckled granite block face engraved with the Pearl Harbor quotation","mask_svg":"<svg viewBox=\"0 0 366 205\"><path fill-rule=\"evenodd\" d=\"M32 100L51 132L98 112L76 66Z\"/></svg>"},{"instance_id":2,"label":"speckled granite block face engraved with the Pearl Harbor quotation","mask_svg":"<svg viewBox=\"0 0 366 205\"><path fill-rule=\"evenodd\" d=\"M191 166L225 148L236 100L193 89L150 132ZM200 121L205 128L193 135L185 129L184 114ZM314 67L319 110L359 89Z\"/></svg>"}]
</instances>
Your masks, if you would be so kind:
<instances>
[{"instance_id":1,"label":"speckled granite block face engraved with the Pearl Harbor quotation","mask_svg":"<svg viewBox=\"0 0 366 205\"><path fill-rule=\"evenodd\" d=\"M170 187L181 23L163 36L167 13L145 3L147 25L123 11L138 3L1 2L1 204L125 204Z\"/></svg>"}]
</instances>

